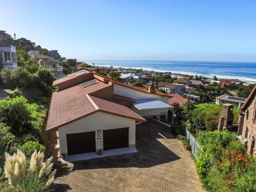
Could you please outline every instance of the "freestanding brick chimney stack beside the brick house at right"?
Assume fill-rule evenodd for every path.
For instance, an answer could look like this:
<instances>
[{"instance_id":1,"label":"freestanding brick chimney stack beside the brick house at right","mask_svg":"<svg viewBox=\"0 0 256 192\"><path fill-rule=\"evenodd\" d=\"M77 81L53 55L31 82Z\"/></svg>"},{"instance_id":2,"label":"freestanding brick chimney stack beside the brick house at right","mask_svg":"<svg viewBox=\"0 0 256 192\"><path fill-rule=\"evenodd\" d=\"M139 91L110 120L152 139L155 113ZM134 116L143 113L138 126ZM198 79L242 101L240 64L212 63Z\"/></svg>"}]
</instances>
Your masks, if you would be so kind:
<instances>
[{"instance_id":1,"label":"freestanding brick chimney stack beside the brick house at right","mask_svg":"<svg viewBox=\"0 0 256 192\"><path fill-rule=\"evenodd\" d=\"M233 107L232 104L223 104L222 105L222 111L220 113L220 120L218 125L218 131L222 131L223 129L227 128L228 126L233 125Z\"/></svg>"}]
</instances>

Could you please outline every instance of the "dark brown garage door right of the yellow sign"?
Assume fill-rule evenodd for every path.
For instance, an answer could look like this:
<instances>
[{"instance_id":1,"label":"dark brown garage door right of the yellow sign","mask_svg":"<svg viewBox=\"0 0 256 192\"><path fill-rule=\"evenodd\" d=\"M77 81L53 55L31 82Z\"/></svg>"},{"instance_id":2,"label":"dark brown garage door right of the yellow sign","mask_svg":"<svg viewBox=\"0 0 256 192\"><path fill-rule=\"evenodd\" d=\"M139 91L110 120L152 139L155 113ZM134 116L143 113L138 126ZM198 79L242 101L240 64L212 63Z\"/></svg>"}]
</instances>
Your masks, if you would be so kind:
<instances>
[{"instance_id":1,"label":"dark brown garage door right of the yellow sign","mask_svg":"<svg viewBox=\"0 0 256 192\"><path fill-rule=\"evenodd\" d=\"M103 130L103 149L128 147L128 127Z\"/></svg>"}]
</instances>

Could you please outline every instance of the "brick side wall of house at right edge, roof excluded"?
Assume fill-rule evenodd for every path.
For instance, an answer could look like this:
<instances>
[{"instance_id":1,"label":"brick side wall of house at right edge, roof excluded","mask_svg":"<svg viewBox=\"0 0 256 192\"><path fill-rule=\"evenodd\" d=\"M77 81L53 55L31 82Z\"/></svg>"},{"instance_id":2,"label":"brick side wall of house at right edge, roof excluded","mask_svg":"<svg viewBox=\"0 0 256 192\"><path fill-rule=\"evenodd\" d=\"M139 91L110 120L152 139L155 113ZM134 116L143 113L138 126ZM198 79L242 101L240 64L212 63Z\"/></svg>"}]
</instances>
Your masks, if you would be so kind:
<instances>
[{"instance_id":1,"label":"brick side wall of house at right edge, roof excluded","mask_svg":"<svg viewBox=\"0 0 256 192\"><path fill-rule=\"evenodd\" d=\"M248 128L248 137L245 138L247 139L247 151L254 152L255 151L255 143L252 146L252 137L256 138L256 124L255 124L255 97L254 99L250 102L248 107L245 109L245 114L244 114L244 124L243 124L243 132L242 132L242 137L245 138L246 134L246 127ZM255 111L254 111L255 110ZM254 114L253 114L254 111Z\"/></svg>"}]
</instances>

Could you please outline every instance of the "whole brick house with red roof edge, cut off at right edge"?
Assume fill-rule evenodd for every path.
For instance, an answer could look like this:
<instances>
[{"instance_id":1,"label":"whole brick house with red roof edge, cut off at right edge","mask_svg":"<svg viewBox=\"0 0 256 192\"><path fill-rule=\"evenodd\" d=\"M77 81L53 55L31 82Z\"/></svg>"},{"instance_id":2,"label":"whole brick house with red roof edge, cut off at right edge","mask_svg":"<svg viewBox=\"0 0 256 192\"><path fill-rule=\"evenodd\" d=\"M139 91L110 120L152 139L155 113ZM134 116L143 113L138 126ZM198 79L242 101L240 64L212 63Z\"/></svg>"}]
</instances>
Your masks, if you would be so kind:
<instances>
[{"instance_id":1,"label":"whole brick house with red roof edge, cut off at right edge","mask_svg":"<svg viewBox=\"0 0 256 192\"><path fill-rule=\"evenodd\" d=\"M256 138L256 85L246 99L238 119L237 136L247 143L248 153L255 155Z\"/></svg>"}]
</instances>

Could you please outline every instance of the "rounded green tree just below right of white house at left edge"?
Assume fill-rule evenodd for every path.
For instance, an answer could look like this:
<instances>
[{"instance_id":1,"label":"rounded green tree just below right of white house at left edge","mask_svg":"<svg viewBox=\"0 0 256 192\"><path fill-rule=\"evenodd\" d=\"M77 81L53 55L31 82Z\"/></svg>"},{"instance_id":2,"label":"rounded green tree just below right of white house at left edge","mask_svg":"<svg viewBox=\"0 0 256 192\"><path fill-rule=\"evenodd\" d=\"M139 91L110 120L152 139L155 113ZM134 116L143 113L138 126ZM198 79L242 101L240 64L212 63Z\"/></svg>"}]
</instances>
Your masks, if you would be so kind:
<instances>
[{"instance_id":1,"label":"rounded green tree just below right of white house at left edge","mask_svg":"<svg viewBox=\"0 0 256 192\"><path fill-rule=\"evenodd\" d=\"M12 70L11 80L18 87L27 87L33 81L31 74L21 67L16 67Z\"/></svg>"}]
</instances>

